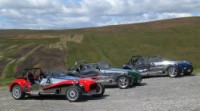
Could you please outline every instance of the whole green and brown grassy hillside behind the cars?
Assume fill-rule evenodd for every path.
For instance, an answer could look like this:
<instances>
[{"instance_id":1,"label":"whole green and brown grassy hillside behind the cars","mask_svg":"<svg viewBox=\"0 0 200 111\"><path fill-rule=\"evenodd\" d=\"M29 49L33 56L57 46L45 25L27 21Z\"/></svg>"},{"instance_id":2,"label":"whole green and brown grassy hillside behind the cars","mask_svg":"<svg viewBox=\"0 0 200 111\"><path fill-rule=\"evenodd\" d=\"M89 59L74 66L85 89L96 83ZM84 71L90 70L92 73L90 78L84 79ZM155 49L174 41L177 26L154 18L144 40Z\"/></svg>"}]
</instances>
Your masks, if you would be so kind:
<instances>
[{"instance_id":1,"label":"whole green and brown grassy hillside behind the cars","mask_svg":"<svg viewBox=\"0 0 200 111\"><path fill-rule=\"evenodd\" d=\"M69 68L76 60L121 67L132 55L190 60L200 68L200 17L75 30L0 30L0 78L28 67Z\"/></svg>"}]
</instances>

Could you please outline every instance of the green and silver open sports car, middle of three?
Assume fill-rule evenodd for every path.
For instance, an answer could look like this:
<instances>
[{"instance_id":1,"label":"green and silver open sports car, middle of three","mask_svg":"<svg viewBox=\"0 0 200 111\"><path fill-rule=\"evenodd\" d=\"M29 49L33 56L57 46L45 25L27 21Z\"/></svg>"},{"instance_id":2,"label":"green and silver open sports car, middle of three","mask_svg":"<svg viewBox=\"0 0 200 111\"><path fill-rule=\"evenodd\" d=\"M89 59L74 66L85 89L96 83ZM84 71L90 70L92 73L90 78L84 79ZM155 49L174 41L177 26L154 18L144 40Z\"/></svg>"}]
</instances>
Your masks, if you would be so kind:
<instances>
[{"instance_id":1,"label":"green and silver open sports car, middle of three","mask_svg":"<svg viewBox=\"0 0 200 111\"><path fill-rule=\"evenodd\" d=\"M117 85L121 89L128 88L135 83L141 83L142 76L136 70L111 68L107 62L87 63L78 61L71 69L74 75L101 81L104 85Z\"/></svg>"}]
</instances>

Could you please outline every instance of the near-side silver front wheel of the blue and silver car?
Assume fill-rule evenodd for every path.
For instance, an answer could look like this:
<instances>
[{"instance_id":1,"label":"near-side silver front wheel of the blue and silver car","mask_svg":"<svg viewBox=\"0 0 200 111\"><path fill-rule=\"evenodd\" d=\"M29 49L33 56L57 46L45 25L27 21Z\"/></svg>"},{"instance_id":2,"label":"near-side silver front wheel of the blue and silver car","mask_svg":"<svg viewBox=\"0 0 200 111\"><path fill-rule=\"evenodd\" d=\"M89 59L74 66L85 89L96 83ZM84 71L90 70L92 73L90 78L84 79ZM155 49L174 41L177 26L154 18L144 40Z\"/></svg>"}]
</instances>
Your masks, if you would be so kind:
<instances>
[{"instance_id":1,"label":"near-side silver front wheel of the blue and silver car","mask_svg":"<svg viewBox=\"0 0 200 111\"><path fill-rule=\"evenodd\" d=\"M171 78L175 78L180 75L180 71L174 66L170 66L167 69L167 73L168 73L169 77L171 77Z\"/></svg>"}]
</instances>

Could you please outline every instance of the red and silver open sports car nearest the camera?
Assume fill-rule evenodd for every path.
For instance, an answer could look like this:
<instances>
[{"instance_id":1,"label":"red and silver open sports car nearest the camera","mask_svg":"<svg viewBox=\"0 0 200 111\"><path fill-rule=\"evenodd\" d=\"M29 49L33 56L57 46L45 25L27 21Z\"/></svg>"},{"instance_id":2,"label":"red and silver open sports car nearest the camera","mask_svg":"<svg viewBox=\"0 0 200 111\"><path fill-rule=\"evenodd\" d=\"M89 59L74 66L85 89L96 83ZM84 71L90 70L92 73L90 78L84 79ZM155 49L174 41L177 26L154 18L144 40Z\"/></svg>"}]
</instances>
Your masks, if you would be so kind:
<instances>
[{"instance_id":1,"label":"red and silver open sports car nearest the camera","mask_svg":"<svg viewBox=\"0 0 200 111\"><path fill-rule=\"evenodd\" d=\"M81 79L66 75L44 74L40 68L25 69L22 77L14 80L10 86L14 99L23 99L25 95L64 95L70 102L78 101L82 95L102 96L105 88L91 79Z\"/></svg>"}]
</instances>

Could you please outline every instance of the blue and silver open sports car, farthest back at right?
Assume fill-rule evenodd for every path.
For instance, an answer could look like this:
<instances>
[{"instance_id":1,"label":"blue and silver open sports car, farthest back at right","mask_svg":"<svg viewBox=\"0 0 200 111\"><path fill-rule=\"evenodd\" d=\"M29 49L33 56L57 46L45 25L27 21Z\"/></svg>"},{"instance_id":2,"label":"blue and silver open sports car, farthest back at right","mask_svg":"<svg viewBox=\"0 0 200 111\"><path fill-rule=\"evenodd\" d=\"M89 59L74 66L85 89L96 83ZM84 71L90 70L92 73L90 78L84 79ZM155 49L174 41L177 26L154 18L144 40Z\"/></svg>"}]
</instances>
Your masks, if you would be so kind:
<instances>
[{"instance_id":1,"label":"blue and silver open sports car, farthest back at right","mask_svg":"<svg viewBox=\"0 0 200 111\"><path fill-rule=\"evenodd\" d=\"M137 70L142 76L169 75L172 78L193 72L191 62L164 60L161 56L132 56L129 62L123 65L123 69Z\"/></svg>"}]
</instances>

